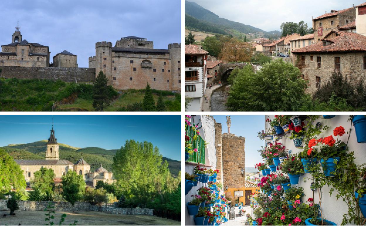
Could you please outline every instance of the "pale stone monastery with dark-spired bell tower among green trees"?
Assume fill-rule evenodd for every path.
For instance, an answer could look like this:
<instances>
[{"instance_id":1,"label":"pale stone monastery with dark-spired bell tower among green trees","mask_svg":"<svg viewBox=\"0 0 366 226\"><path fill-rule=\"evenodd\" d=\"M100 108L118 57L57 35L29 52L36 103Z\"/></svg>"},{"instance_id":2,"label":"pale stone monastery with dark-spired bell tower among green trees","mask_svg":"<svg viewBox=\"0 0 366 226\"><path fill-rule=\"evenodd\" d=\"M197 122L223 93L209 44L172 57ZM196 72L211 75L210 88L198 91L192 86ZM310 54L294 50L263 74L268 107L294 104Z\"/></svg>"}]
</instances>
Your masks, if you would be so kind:
<instances>
[{"instance_id":1,"label":"pale stone monastery with dark-spired bell tower among green trees","mask_svg":"<svg viewBox=\"0 0 366 226\"><path fill-rule=\"evenodd\" d=\"M53 126L51 129L51 135L46 143L46 158L45 159L15 159L15 162L19 164L23 175L27 183L27 188L30 188L31 180L34 177L34 172L39 171L41 168L53 169L55 173L55 184L61 183L61 177L66 175L69 170L74 170L79 175L83 175L83 178L87 186L95 188L98 181L103 181L108 184L115 182L113 179L113 173L108 172L105 168L100 167L90 172L90 165L81 157L75 164L59 158L59 144L55 137L55 130Z\"/></svg>"}]
</instances>

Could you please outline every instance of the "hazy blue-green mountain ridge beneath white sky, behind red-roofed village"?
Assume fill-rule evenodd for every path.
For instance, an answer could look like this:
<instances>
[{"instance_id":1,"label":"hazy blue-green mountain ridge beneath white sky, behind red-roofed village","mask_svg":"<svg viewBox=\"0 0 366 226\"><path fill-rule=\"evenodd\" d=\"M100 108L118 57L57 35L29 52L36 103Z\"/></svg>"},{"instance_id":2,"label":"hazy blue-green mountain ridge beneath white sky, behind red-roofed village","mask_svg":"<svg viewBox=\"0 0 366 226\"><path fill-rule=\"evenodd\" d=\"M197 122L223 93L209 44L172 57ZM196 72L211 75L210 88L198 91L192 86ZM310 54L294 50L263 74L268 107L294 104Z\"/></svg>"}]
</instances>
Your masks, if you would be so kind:
<instances>
[{"instance_id":1,"label":"hazy blue-green mountain ridge beneath white sky, behind red-roofed village","mask_svg":"<svg viewBox=\"0 0 366 226\"><path fill-rule=\"evenodd\" d=\"M194 18L197 18L201 21L206 21L209 23L213 23L214 25L219 25L221 29L225 29L226 27L229 27L231 29L238 30L239 32L249 34L249 33L255 33L255 32L263 32L266 35L276 35L281 36L281 32L275 30L271 32L265 32L262 29L259 29L257 27L253 27L250 25L245 25L243 23L235 22L235 21L229 21L228 19L220 18L220 16L214 14L213 12L206 10L202 6L198 5L197 3L191 2L191 1L185 1L185 11L186 14L193 16Z\"/></svg>"}]
</instances>

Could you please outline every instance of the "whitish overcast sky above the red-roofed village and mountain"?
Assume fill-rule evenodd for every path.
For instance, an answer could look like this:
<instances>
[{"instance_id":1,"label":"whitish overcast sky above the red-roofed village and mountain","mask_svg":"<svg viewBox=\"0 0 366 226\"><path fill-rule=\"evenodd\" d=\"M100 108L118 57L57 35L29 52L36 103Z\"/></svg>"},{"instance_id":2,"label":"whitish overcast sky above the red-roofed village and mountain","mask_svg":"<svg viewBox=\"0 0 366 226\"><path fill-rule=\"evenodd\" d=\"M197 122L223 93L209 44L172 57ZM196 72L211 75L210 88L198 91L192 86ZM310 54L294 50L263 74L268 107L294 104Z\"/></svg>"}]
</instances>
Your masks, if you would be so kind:
<instances>
[{"instance_id":1,"label":"whitish overcast sky above the red-roofed village and mountain","mask_svg":"<svg viewBox=\"0 0 366 226\"><path fill-rule=\"evenodd\" d=\"M189 0L214 14L231 21L258 27L265 31L280 30L283 22L304 21L312 27L313 18L330 12L359 5L365 0Z\"/></svg>"}]
</instances>

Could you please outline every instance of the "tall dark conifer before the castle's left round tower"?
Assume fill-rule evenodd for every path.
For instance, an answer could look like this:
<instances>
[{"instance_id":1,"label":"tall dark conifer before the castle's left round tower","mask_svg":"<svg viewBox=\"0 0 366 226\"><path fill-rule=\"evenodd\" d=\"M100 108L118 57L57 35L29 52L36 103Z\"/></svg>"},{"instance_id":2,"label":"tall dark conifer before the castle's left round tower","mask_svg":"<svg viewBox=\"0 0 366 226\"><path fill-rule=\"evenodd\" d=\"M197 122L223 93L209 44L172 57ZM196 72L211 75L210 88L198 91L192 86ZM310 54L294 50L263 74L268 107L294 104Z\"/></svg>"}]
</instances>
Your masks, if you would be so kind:
<instances>
[{"instance_id":1,"label":"tall dark conifer before the castle's left round tower","mask_svg":"<svg viewBox=\"0 0 366 226\"><path fill-rule=\"evenodd\" d=\"M103 111L103 108L109 104L109 86L108 78L103 71L100 71L94 82L93 108L96 111Z\"/></svg>"}]
</instances>

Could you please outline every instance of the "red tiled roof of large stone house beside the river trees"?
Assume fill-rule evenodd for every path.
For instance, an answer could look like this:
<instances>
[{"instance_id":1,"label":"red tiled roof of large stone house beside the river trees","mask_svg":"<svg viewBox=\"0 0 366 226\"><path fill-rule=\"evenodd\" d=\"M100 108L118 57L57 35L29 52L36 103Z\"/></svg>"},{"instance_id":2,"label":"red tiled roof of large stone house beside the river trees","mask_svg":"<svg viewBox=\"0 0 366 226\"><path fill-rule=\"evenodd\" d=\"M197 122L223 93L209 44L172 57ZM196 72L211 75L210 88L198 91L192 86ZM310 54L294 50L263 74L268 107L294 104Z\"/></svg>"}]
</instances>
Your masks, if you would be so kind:
<instances>
[{"instance_id":1,"label":"red tiled roof of large stone house beside the river trees","mask_svg":"<svg viewBox=\"0 0 366 226\"><path fill-rule=\"evenodd\" d=\"M366 52L366 37L353 32L336 32L335 38L324 38L331 42L329 45L323 46L323 42L309 45L292 51L292 53L307 53L307 52Z\"/></svg>"}]
</instances>

